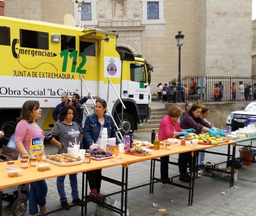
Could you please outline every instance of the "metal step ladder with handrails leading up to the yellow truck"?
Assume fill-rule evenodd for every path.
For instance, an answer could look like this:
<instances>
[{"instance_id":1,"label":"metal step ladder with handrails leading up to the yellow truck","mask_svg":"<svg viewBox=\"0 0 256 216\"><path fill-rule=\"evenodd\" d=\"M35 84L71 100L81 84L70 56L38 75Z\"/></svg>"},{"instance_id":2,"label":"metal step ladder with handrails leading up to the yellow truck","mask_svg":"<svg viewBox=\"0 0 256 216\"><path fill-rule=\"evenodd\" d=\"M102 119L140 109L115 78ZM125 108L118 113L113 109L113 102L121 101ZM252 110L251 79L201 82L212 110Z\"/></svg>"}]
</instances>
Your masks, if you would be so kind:
<instances>
[{"instance_id":1,"label":"metal step ladder with handrails leading up to the yellow truck","mask_svg":"<svg viewBox=\"0 0 256 216\"><path fill-rule=\"evenodd\" d=\"M81 98L82 98L82 87L83 87L83 85L86 87L86 90L88 91L88 93L90 92L90 90L89 90L89 88L87 87L87 85L86 85L86 83L85 83L85 81L84 81L84 79L83 79L83 77L82 77L81 75L80 75L80 78L81 78ZM110 80L109 77L108 77L108 79L109 79L109 83L108 83L108 96L107 96L107 98L109 98L109 84L111 84L111 86L113 87L114 91L116 92L116 94L117 94L119 100L121 101L121 98L119 97L119 95L118 95L118 93L117 93L117 91L116 91L116 89L115 89L114 85L112 84L112 82L111 82L111 80ZM94 96L94 97L95 97L95 96ZM95 98L96 98L96 99L94 99L93 96L91 95L91 97L90 97L91 102L86 102L86 103L83 104L83 106L85 107L85 110L84 110L84 115L85 115L85 117L87 117L87 116L89 116L89 115L91 115L91 114L94 113L94 106L96 105L96 100L97 100L98 97L96 96ZM106 101L106 102L108 102L108 101ZM122 103L122 101L121 101L121 103ZM89 110L89 108L91 108L91 107L93 107L93 111L92 111L92 110ZM123 119L123 108L125 109L125 106L124 106L124 104L122 103L122 116L121 116L122 119ZM120 138L121 140L123 140L123 136L122 136L121 131L120 131L121 128L119 128L119 127L117 126L117 124L116 124L116 122L115 122L115 120L114 120L114 117L112 116L112 114L111 114L111 112L110 112L108 106L107 106L107 112L106 112L106 114L111 116L112 120L114 121L116 133L119 134L119 138ZM122 122L122 119L121 119L121 122Z\"/></svg>"}]
</instances>

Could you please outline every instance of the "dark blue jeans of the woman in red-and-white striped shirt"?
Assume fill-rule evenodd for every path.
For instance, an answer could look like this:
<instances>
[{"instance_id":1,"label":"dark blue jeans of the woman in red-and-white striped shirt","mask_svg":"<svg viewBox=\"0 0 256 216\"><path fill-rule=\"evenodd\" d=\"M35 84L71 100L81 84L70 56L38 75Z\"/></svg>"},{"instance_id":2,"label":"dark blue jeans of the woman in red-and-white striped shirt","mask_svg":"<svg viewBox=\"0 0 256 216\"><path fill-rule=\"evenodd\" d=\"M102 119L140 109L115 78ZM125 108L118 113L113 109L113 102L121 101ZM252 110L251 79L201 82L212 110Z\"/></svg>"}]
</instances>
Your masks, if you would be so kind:
<instances>
[{"instance_id":1,"label":"dark blue jeans of the woman in red-and-white striped shirt","mask_svg":"<svg viewBox=\"0 0 256 216\"><path fill-rule=\"evenodd\" d=\"M45 206L47 190L48 188L45 180L30 182L28 193L28 209L30 215L35 215L38 213L38 205Z\"/></svg>"}]
</instances>

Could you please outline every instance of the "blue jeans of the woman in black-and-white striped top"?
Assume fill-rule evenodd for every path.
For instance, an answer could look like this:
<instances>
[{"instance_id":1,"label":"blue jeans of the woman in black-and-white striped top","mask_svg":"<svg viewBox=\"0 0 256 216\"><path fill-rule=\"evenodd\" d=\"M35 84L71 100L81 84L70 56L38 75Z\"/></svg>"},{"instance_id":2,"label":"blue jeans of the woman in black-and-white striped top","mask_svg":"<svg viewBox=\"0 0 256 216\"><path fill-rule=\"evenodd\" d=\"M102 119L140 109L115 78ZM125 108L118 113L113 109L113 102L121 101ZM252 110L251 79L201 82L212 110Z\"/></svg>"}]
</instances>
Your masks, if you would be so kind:
<instances>
[{"instance_id":1,"label":"blue jeans of the woman in black-and-white striped top","mask_svg":"<svg viewBox=\"0 0 256 216\"><path fill-rule=\"evenodd\" d=\"M67 201L65 187L64 187L65 177L66 177L66 175L57 177L57 190L61 197L60 198L61 202ZM73 200L75 200L75 199L79 198L78 188L77 188L77 173L69 175L69 182L70 182L70 187L71 187L71 196L72 196Z\"/></svg>"}]
</instances>

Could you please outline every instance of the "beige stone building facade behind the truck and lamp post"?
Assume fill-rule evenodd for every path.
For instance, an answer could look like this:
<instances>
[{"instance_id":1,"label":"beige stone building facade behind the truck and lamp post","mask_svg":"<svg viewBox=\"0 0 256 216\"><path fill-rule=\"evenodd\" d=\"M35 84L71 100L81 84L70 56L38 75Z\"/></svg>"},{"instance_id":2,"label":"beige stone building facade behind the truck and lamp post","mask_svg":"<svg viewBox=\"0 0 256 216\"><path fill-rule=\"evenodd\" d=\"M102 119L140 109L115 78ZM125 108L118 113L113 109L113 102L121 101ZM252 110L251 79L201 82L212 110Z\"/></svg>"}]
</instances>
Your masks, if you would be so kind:
<instances>
[{"instance_id":1,"label":"beige stone building facade behind the truck and lamp post","mask_svg":"<svg viewBox=\"0 0 256 216\"><path fill-rule=\"evenodd\" d=\"M8 17L64 24L64 15L69 13L78 25L75 0L4 2ZM152 92L157 83L178 76L178 48L174 38L178 31L185 35L181 48L182 76L251 75L251 0L85 2L82 13L87 20L82 21L82 25L118 32L118 49L142 54L154 66ZM152 15L148 10L152 3L157 3L157 11L154 11L157 19L148 17Z\"/></svg>"}]
</instances>

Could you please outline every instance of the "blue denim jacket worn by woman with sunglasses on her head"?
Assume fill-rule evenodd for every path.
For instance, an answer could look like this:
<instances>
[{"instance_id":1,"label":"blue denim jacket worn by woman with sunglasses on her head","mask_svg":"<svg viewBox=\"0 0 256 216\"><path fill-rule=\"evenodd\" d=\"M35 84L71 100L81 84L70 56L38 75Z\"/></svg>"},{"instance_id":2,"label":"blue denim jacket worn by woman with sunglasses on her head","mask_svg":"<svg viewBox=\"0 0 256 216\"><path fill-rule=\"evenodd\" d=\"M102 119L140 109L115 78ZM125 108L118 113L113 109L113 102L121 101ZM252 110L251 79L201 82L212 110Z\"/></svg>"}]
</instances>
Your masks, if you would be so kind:
<instances>
[{"instance_id":1,"label":"blue denim jacket worn by woman with sunglasses on her head","mask_svg":"<svg viewBox=\"0 0 256 216\"><path fill-rule=\"evenodd\" d=\"M116 137L116 143L119 144L118 137L116 135L116 130L114 127L114 121L111 116L104 114L104 128L107 128L108 138ZM84 126L84 147L87 149L93 143L96 143L100 133L100 123L98 116L94 113L87 116Z\"/></svg>"}]
</instances>

